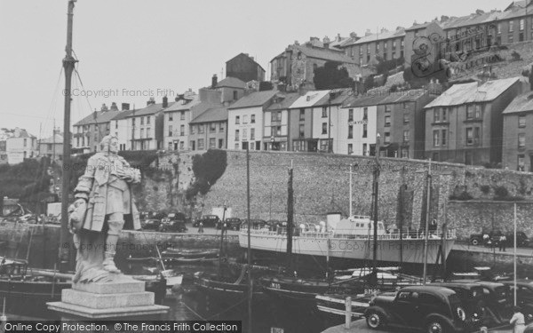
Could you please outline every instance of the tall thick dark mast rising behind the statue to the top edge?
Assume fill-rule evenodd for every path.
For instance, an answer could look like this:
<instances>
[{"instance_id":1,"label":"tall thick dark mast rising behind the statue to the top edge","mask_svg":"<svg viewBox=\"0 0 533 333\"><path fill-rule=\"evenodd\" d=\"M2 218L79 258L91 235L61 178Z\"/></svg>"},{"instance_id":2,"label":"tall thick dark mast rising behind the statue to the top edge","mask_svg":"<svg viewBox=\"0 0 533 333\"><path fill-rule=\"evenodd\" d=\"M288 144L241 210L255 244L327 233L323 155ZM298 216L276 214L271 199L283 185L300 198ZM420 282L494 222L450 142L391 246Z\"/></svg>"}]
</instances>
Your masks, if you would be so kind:
<instances>
[{"instance_id":1,"label":"tall thick dark mast rising behind the statue to the top edge","mask_svg":"<svg viewBox=\"0 0 533 333\"><path fill-rule=\"evenodd\" d=\"M68 192L70 191L70 103L71 103L71 80L74 65L77 60L72 56L72 21L74 16L74 3L76 0L68 0L68 23L67 23L67 52L63 59L65 68L65 115L63 120L63 180L61 186L61 234L60 234L60 272L68 271L69 247L68 244Z\"/></svg>"}]
</instances>

